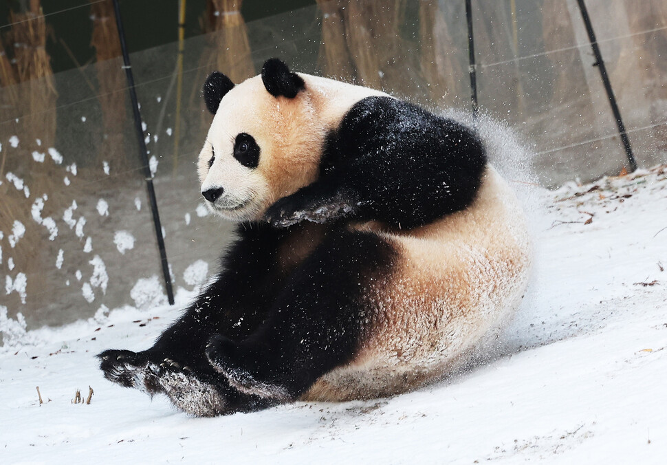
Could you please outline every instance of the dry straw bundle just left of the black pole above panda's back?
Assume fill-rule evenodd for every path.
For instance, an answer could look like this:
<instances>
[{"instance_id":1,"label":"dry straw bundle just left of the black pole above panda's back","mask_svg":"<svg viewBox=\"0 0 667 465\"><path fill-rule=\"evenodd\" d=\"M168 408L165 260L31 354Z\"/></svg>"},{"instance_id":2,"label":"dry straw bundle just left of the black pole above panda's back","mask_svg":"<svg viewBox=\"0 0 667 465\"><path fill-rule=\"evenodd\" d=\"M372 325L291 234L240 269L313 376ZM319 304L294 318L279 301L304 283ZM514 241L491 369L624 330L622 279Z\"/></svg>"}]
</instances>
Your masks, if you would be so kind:
<instances>
[{"instance_id":1,"label":"dry straw bundle just left of the black pole above panda's back","mask_svg":"<svg viewBox=\"0 0 667 465\"><path fill-rule=\"evenodd\" d=\"M454 41L448 33L444 14L435 0L419 3L419 35L422 38L421 68L428 83L430 99L436 105L450 106L461 95L463 69L457 60Z\"/></svg>"}]
</instances>

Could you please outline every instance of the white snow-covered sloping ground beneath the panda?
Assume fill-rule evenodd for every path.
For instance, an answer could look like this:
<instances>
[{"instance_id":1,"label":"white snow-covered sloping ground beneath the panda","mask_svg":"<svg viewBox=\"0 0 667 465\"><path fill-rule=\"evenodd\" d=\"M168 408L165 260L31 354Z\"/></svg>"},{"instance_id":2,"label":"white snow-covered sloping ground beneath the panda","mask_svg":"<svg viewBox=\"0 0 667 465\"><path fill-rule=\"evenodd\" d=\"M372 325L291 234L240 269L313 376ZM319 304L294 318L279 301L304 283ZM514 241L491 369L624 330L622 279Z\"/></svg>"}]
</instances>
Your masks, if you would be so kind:
<instances>
[{"instance_id":1,"label":"white snow-covered sloping ground beneath the panda","mask_svg":"<svg viewBox=\"0 0 667 465\"><path fill-rule=\"evenodd\" d=\"M667 167L529 195L535 277L501 350L403 396L190 418L94 358L149 347L179 310L27 333L0 313L0 462L664 463Z\"/></svg>"}]
</instances>

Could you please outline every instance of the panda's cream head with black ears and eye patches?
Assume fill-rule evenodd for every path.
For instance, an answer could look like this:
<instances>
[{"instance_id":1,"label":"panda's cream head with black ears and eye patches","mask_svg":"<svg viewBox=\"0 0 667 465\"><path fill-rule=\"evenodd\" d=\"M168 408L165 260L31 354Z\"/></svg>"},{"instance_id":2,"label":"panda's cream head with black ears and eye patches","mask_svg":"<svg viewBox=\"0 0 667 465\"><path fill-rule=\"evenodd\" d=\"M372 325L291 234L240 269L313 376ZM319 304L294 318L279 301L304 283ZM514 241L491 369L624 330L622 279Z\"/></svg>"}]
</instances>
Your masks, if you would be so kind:
<instances>
[{"instance_id":1,"label":"panda's cream head with black ears and eye patches","mask_svg":"<svg viewBox=\"0 0 667 465\"><path fill-rule=\"evenodd\" d=\"M316 180L325 131L305 81L272 58L239 85L219 72L204 85L213 121L199 153L201 193L226 219L259 219Z\"/></svg>"}]
</instances>

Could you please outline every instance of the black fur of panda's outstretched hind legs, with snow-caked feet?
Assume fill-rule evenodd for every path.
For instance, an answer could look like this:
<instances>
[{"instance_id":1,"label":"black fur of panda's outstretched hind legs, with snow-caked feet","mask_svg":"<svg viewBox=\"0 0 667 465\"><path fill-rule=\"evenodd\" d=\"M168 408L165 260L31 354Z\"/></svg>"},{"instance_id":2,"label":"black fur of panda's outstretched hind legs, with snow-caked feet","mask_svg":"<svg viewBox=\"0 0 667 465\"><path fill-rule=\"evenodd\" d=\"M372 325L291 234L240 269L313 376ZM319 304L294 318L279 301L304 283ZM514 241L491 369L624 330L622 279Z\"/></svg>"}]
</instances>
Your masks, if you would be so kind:
<instances>
[{"instance_id":1,"label":"black fur of panda's outstretched hind legs, with snow-caked feet","mask_svg":"<svg viewBox=\"0 0 667 465\"><path fill-rule=\"evenodd\" d=\"M166 393L186 411L172 391L182 396L195 382L224 402L190 413L220 415L292 400L353 356L365 321L361 299L391 275L393 248L370 233L331 228L285 269L276 257L285 231L245 224L238 232L225 270L151 349L98 356L107 379Z\"/></svg>"}]
</instances>

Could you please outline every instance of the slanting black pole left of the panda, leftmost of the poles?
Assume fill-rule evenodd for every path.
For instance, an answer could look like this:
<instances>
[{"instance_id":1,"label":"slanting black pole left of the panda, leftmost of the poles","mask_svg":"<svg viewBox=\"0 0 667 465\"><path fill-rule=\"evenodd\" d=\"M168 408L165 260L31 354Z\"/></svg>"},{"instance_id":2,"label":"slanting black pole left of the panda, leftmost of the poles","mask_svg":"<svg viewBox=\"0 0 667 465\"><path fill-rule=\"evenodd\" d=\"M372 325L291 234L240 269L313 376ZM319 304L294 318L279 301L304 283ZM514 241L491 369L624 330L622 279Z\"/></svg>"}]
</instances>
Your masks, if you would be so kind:
<instances>
[{"instance_id":1,"label":"slanting black pole left of the panda, leftmost of the poles","mask_svg":"<svg viewBox=\"0 0 667 465\"><path fill-rule=\"evenodd\" d=\"M169 305L174 305L174 291L171 285L171 275L169 274L169 263L166 258L166 249L164 248L164 237L162 237L162 226L160 224L160 214L157 212L157 199L155 199L155 188L153 187L153 174L149 166L149 156L146 152L146 142L144 141L144 130L141 127L141 113L139 111L139 102L137 91L134 87L134 78L132 76L132 67L130 57L125 43L125 33L123 30L122 19L120 17L120 5L118 0L113 0L113 10L116 12L116 28L118 28L118 38L120 39L120 48L123 54L123 68L125 69L125 78L130 91L132 100L132 111L134 113L134 126L137 132L139 142L139 156L144 169L146 179L146 188L148 189L149 202L151 203L151 212L153 212L153 225L155 225L155 237L157 239L157 248L160 249L160 262L162 263L162 275L164 276L164 287L166 288Z\"/></svg>"}]
</instances>

